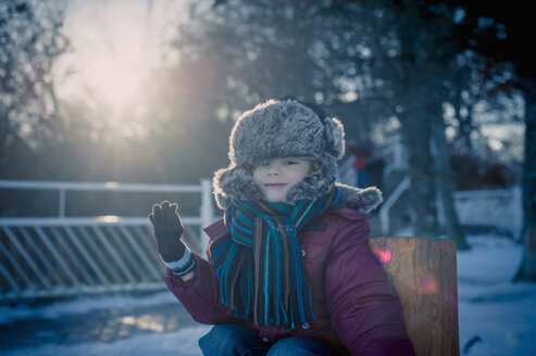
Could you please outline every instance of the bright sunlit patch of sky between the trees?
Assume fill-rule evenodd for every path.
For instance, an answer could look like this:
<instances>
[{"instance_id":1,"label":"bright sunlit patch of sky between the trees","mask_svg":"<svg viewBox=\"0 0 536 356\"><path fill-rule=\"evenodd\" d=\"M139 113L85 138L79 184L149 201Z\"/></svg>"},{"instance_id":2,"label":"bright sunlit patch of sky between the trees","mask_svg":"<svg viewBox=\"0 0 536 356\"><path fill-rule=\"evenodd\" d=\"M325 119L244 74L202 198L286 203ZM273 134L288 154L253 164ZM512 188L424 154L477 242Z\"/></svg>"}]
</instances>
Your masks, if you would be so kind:
<instances>
[{"instance_id":1,"label":"bright sunlit patch of sky between the trees","mask_svg":"<svg viewBox=\"0 0 536 356\"><path fill-rule=\"evenodd\" d=\"M72 50L57 66L59 97L95 96L121 111L151 69L173 61L166 43L189 0L64 0ZM167 55L167 56L166 56Z\"/></svg>"}]
</instances>

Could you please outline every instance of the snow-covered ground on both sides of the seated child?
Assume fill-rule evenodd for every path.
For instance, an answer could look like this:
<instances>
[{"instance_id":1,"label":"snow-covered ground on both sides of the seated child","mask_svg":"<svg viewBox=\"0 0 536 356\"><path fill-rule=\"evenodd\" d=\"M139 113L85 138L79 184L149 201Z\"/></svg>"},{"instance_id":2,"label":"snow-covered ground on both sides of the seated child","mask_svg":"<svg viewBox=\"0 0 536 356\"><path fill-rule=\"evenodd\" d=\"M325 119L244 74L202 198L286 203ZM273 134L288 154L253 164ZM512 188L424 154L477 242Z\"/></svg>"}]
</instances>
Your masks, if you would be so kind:
<instances>
[{"instance_id":1,"label":"snow-covered ground on both sides of the seated child","mask_svg":"<svg viewBox=\"0 0 536 356\"><path fill-rule=\"evenodd\" d=\"M458 253L460 351L462 355L536 355L536 283L512 283L522 246L494 234L469 238L472 250ZM62 318L114 306L148 306L171 303L174 296L161 292L146 297L80 297L38 308L24 305L0 308L0 325L17 319ZM132 318L130 318L132 319ZM137 322L137 320L125 322ZM209 327L183 328L174 332L152 331L115 342L77 345L42 344L20 348L5 356L43 355L200 355L197 341ZM465 345L473 340L472 346Z\"/></svg>"}]
</instances>

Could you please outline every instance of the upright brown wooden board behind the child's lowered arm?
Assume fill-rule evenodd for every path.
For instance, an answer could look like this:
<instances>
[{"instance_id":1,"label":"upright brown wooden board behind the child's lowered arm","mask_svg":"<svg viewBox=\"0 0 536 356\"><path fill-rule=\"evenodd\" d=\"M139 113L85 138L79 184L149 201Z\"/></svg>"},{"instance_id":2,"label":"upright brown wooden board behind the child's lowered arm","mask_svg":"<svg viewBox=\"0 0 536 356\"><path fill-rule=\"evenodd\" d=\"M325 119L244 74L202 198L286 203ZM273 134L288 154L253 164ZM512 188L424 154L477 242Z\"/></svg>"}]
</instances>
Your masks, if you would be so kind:
<instances>
[{"instance_id":1,"label":"upright brown wooden board behind the child's lowered arm","mask_svg":"<svg viewBox=\"0 0 536 356\"><path fill-rule=\"evenodd\" d=\"M460 355L454 241L390 237L369 245L397 290L416 355Z\"/></svg>"}]
</instances>

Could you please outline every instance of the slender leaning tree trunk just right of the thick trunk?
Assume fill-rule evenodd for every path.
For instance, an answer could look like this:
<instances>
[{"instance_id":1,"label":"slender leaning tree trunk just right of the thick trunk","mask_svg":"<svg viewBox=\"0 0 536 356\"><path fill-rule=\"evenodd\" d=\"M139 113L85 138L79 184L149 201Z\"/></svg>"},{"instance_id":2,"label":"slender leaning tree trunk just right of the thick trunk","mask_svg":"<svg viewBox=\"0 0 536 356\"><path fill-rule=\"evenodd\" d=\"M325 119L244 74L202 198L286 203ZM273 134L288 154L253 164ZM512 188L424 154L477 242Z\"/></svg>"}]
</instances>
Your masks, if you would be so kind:
<instances>
[{"instance_id":1,"label":"slender leaning tree trunk just right of the thick trunk","mask_svg":"<svg viewBox=\"0 0 536 356\"><path fill-rule=\"evenodd\" d=\"M436 165L437 192L440 202L442 227L446 234L456 241L458 250L469 250L453 202L453 186L450 171L449 148L445 137L445 122L441 116L432 119L432 134L434 137L434 161Z\"/></svg>"}]
</instances>

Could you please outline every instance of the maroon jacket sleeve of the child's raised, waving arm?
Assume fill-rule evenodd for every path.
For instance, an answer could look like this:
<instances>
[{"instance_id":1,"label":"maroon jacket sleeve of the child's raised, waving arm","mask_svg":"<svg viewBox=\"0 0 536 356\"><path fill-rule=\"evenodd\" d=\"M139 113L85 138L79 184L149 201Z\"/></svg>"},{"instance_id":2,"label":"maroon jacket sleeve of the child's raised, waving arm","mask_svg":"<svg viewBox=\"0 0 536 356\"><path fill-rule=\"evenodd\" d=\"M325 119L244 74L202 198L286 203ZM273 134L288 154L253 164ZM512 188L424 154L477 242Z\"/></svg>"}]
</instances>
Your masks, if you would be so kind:
<instances>
[{"instance_id":1,"label":"maroon jacket sleeve of the child's raised, waving arm","mask_svg":"<svg viewBox=\"0 0 536 356\"><path fill-rule=\"evenodd\" d=\"M191 317L201 323L238 322L220 302L219 282L210 263L194 254L195 276L184 282L167 268L165 283Z\"/></svg>"}]
</instances>

